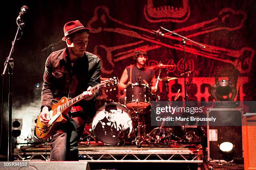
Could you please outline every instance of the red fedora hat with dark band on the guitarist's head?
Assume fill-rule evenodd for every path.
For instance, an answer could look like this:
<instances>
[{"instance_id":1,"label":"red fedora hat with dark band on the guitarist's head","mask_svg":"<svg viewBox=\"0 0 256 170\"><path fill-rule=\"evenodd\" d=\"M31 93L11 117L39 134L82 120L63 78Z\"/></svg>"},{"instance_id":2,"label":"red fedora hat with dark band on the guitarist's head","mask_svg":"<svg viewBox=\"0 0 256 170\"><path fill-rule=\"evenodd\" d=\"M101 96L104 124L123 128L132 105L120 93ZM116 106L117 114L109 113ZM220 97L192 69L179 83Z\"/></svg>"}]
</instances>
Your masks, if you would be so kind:
<instances>
[{"instance_id":1,"label":"red fedora hat with dark band on the guitarist's head","mask_svg":"<svg viewBox=\"0 0 256 170\"><path fill-rule=\"evenodd\" d=\"M67 40L67 37L69 37L74 32L84 30L87 33L89 33L89 28L84 28L84 25L82 25L79 20L70 21L64 25L64 37L62 38L63 41Z\"/></svg>"}]
</instances>

